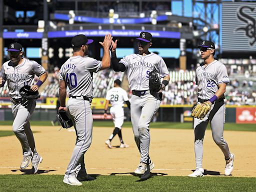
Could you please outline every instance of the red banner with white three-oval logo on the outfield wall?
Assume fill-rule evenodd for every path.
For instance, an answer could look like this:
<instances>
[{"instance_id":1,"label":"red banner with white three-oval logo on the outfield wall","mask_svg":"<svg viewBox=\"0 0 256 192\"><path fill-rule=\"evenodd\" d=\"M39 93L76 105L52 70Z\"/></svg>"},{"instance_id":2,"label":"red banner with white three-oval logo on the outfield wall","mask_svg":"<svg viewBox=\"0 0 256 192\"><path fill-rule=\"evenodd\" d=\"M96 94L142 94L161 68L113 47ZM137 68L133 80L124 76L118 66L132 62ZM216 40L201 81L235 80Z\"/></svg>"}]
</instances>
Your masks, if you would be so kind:
<instances>
[{"instance_id":1,"label":"red banner with white three-oval logo on the outfield wall","mask_svg":"<svg viewBox=\"0 0 256 192\"><path fill-rule=\"evenodd\" d=\"M237 107L236 123L256 123L256 107Z\"/></svg>"}]
</instances>

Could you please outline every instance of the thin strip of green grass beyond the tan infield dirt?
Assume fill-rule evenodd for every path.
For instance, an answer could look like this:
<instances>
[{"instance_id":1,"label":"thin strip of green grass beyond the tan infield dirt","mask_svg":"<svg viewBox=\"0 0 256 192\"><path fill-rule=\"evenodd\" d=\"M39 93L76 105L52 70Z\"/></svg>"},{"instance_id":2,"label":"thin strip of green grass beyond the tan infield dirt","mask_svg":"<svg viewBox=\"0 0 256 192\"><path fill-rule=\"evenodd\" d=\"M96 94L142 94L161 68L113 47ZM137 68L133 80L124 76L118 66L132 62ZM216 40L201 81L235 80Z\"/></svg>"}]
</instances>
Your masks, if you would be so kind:
<instances>
[{"instance_id":1,"label":"thin strip of green grass beyond the tan infield dirt","mask_svg":"<svg viewBox=\"0 0 256 192\"><path fill-rule=\"evenodd\" d=\"M50 121L31 121L31 125L37 126L51 126ZM0 125L12 125L12 121L0 121ZM109 126L113 127L112 121L93 121L93 126ZM60 126L59 126L60 127ZM130 121L125 121L123 127L131 127ZM180 128L180 129L191 129L192 125L190 122L151 122L150 128ZM209 124L208 124L208 127ZM227 122L224 124L224 130L242 130L242 131L256 131L255 124L236 124L233 122Z\"/></svg>"}]
</instances>

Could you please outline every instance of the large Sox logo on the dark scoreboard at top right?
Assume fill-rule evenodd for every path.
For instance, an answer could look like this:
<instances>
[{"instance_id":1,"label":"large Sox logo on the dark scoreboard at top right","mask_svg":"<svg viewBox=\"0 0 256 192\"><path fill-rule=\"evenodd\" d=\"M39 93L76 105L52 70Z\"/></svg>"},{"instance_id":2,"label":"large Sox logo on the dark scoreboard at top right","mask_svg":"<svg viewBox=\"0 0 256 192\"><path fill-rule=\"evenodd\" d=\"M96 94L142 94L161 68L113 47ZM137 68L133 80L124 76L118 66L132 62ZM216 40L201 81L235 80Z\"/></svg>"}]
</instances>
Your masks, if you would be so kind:
<instances>
[{"instance_id":1,"label":"large Sox logo on the dark scoreboard at top right","mask_svg":"<svg viewBox=\"0 0 256 192\"><path fill-rule=\"evenodd\" d=\"M249 14L246 14L244 9L249 9L251 12L253 12L254 10L256 11L256 8L242 6L236 13L236 15L241 21L245 22L247 25L245 27L236 28L235 31L244 30L245 35L249 38L252 38L252 41L249 42L249 44L252 46L256 42L256 19Z\"/></svg>"}]
</instances>

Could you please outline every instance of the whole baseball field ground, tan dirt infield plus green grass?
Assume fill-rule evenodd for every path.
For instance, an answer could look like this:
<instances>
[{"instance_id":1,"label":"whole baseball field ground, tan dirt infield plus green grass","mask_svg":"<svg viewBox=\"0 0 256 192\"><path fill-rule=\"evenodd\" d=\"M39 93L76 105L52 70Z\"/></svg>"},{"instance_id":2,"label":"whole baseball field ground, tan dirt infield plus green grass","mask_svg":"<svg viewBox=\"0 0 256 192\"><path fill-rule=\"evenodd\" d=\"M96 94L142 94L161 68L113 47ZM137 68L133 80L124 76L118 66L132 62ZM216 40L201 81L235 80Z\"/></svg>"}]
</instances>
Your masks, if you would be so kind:
<instances>
[{"instance_id":1,"label":"whole baseball field ground, tan dirt infield plus green grass","mask_svg":"<svg viewBox=\"0 0 256 192\"><path fill-rule=\"evenodd\" d=\"M133 171L139 153L131 124L124 123L124 142L112 140L112 149L104 141L112 132L112 122L95 121L93 139L85 153L87 173L96 179L83 181L82 186L62 182L75 143L73 128L60 129L50 122L31 122L36 148L43 157L38 174L30 168L21 170L20 143L11 131L11 121L0 122L0 191L255 191L256 126L226 123L224 139L235 154L231 176L224 176L224 157L207 129L204 137L203 168L205 175L189 178L195 168L193 129L190 123L155 122L151 124L150 157L155 164L151 177L141 181Z\"/></svg>"}]
</instances>

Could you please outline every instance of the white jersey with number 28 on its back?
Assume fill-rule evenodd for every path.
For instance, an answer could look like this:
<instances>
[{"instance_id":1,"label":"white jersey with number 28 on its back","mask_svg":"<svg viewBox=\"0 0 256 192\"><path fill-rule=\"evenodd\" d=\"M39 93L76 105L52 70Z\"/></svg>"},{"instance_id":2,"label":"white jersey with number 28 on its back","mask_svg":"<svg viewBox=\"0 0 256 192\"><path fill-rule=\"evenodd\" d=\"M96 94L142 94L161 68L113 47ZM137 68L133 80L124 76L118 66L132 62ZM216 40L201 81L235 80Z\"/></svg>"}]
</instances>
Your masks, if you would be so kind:
<instances>
[{"instance_id":1,"label":"white jersey with number 28 on its back","mask_svg":"<svg viewBox=\"0 0 256 192\"><path fill-rule=\"evenodd\" d=\"M121 87L113 87L106 93L106 100L110 100L112 106L123 106L123 101L128 100L127 93Z\"/></svg>"}]
</instances>

